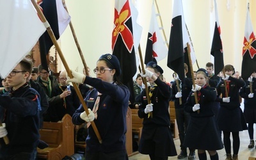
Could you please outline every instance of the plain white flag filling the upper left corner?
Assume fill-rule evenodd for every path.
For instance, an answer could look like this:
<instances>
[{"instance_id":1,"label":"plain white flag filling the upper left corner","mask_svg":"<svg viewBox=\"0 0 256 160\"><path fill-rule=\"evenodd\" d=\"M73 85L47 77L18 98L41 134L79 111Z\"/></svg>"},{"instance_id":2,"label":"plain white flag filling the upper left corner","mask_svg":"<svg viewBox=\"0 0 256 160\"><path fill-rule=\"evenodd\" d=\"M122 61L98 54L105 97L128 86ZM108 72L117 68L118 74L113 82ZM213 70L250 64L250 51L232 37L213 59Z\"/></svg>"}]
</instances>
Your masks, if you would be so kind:
<instances>
[{"instance_id":1,"label":"plain white flag filling the upper left corner","mask_svg":"<svg viewBox=\"0 0 256 160\"><path fill-rule=\"evenodd\" d=\"M0 0L0 76L5 78L34 47L44 33L29 0Z\"/></svg>"}]
</instances>

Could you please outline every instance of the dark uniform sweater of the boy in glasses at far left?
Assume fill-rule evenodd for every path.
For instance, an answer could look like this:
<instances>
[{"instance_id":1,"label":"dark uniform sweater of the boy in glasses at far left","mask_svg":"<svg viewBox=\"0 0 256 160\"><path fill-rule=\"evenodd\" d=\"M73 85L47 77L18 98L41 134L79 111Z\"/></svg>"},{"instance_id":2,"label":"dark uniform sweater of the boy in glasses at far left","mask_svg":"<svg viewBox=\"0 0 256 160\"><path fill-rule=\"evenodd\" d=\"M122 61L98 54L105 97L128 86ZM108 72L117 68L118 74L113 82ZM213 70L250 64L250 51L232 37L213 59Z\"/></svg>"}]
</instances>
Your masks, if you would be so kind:
<instances>
[{"instance_id":1,"label":"dark uniform sweater of the boy in glasses at far left","mask_svg":"<svg viewBox=\"0 0 256 160\"><path fill-rule=\"evenodd\" d=\"M4 123L10 140L9 145L4 145L1 138L1 156L32 152L36 149L40 138L38 97L38 93L28 85L11 94L0 95L0 105L6 109Z\"/></svg>"}]
</instances>

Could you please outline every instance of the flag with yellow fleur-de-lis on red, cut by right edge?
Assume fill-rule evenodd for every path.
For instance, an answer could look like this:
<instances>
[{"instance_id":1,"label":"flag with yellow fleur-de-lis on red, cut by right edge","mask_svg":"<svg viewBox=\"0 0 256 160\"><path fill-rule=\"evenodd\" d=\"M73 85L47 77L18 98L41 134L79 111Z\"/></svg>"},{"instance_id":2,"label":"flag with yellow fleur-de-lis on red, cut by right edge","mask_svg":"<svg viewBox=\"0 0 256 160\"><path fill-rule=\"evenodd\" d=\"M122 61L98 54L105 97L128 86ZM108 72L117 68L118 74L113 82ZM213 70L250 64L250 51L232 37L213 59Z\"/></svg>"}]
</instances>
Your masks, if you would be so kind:
<instances>
[{"instance_id":1,"label":"flag with yellow fleur-de-lis on red, cut by right edge","mask_svg":"<svg viewBox=\"0 0 256 160\"><path fill-rule=\"evenodd\" d=\"M245 29L244 29L244 46L241 77L247 80L248 77L256 72L256 41L253 33L252 20L249 9L247 9Z\"/></svg>"}]
</instances>

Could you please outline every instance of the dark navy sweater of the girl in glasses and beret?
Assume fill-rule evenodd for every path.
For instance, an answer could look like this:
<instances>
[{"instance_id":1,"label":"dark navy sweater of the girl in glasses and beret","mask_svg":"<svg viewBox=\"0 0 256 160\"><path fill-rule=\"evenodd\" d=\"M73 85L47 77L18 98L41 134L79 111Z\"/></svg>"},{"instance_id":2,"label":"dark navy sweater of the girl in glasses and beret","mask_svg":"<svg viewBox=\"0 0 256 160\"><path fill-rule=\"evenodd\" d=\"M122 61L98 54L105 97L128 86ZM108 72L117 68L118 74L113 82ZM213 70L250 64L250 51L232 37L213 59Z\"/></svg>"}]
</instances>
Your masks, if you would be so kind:
<instances>
[{"instance_id":1,"label":"dark navy sweater of the girl in glasses and beret","mask_svg":"<svg viewBox=\"0 0 256 160\"><path fill-rule=\"evenodd\" d=\"M102 138L102 144L99 143L92 125L90 125L86 138L86 152L108 153L125 150L126 113L130 95L128 88L124 85L111 84L88 76L84 84L94 87L84 99L88 108L93 110L98 92L102 93L97 111L98 117L94 120ZM81 125L84 123L84 120L80 118L83 111L83 106L79 106L72 116L74 124Z\"/></svg>"}]
</instances>

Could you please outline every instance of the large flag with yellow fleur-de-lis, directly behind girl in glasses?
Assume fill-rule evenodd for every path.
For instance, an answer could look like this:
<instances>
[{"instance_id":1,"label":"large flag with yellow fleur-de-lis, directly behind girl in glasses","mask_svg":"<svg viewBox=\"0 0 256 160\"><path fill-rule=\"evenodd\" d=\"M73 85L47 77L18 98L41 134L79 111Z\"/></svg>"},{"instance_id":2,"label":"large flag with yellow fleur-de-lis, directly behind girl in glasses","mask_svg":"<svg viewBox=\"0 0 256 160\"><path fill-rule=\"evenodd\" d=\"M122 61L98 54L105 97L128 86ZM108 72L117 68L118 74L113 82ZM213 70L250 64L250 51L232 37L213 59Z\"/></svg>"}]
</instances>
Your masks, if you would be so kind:
<instances>
[{"instance_id":1,"label":"large flag with yellow fleur-de-lis, directly behind girl in glasses","mask_svg":"<svg viewBox=\"0 0 256 160\"><path fill-rule=\"evenodd\" d=\"M136 23L138 12L132 1L115 0L114 29L112 32L112 50L120 61L122 73L120 80L131 92L130 102L134 102L133 80L136 74L135 50L140 43L140 26Z\"/></svg>"}]
</instances>

